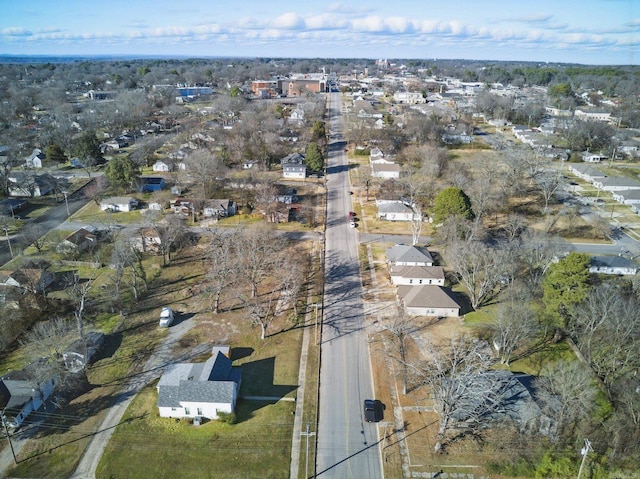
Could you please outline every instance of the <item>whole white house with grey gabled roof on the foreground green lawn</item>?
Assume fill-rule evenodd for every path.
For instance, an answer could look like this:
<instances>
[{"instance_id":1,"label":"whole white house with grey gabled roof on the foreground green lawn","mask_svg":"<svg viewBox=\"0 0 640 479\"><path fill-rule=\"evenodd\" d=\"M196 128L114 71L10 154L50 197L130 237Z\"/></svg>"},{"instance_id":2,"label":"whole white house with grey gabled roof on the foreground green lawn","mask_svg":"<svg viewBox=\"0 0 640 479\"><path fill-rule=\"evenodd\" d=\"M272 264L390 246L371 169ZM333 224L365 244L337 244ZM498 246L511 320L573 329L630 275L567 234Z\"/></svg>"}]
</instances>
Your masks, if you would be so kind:
<instances>
[{"instance_id":1,"label":"whole white house with grey gabled roof on the foreground green lawn","mask_svg":"<svg viewBox=\"0 0 640 479\"><path fill-rule=\"evenodd\" d=\"M216 350L204 363L169 366L157 386L160 417L218 419L220 413L232 413L242 375L231 364Z\"/></svg>"}]
</instances>

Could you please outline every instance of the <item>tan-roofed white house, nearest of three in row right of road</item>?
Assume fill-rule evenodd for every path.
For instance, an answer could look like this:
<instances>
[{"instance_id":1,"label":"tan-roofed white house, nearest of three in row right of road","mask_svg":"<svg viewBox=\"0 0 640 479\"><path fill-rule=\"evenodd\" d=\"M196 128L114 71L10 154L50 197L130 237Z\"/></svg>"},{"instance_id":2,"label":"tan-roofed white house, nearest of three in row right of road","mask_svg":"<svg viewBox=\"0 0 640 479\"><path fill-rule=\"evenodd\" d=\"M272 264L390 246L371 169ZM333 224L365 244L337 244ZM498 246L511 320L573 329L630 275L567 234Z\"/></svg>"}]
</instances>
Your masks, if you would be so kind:
<instances>
[{"instance_id":1,"label":"tan-roofed white house, nearest of three in row right of road","mask_svg":"<svg viewBox=\"0 0 640 479\"><path fill-rule=\"evenodd\" d=\"M398 299L407 314L412 316L436 316L457 318L460 305L442 286L398 286Z\"/></svg>"}]
</instances>

